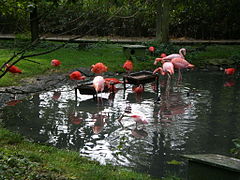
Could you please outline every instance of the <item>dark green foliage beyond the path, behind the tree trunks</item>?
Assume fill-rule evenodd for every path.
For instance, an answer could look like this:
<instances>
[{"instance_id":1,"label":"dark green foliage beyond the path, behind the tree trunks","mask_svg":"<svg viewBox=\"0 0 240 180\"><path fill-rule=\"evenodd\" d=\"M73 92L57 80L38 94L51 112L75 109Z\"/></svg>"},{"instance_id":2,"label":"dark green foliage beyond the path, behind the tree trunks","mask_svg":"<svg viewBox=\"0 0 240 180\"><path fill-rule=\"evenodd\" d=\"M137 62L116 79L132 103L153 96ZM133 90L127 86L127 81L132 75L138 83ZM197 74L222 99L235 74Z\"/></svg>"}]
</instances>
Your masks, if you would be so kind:
<instances>
[{"instance_id":1,"label":"dark green foliage beyond the path, behind the tree trunks","mask_svg":"<svg viewBox=\"0 0 240 180\"><path fill-rule=\"evenodd\" d=\"M0 17L6 33L29 31L29 12L38 7L41 33L97 36L155 36L157 0L2 0ZM238 0L170 1L170 36L239 39ZM118 12L116 14L116 12ZM114 17L106 23L109 17ZM83 25L84 24L84 25ZM83 26L82 26L83 25Z\"/></svg>"}]
</instances>

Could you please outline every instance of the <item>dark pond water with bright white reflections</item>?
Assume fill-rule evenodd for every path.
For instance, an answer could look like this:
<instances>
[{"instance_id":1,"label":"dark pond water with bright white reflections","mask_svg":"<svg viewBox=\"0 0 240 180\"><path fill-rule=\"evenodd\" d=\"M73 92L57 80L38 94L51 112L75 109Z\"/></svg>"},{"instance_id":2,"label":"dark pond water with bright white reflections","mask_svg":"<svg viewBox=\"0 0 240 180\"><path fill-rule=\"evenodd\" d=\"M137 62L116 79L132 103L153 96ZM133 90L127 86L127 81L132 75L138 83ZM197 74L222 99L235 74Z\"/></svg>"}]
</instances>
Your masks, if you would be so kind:
<instances>
[{"instance_id":1,"label":"dark pond water with bright white reflections","mask_svg":"<svg viewBox=\"0 0 240 180\"><path fill-rule=\"evenodd\" d=\"M10 130L35 142L79 151L102 164L111 163L156 177L186 177L182 154L230 155L232 139L240 137L240 91L237 77L223 72L184 72L176 85L160 78L160 101L155 87L145 85L137 96L121 84L101 102L71 86L43 92L1 110ZM131 111L131 113L130 113ZM139 115L148 124L137 124Z\"/></svg>"}]
</instances>

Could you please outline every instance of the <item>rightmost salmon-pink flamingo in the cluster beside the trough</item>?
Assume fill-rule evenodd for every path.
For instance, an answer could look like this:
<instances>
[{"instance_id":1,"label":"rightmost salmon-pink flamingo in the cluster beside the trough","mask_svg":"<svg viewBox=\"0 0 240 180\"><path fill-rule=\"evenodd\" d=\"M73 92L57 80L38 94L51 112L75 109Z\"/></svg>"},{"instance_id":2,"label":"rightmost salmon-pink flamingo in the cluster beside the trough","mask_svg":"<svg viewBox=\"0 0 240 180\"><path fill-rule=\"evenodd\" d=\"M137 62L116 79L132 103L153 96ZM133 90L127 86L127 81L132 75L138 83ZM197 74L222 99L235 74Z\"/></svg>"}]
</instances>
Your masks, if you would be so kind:
<instances>
[{"instance_id":1,"label":"rightmost salmon-pink flamingo in the cluster beside the trough","mask_svg":"<svg viewBox=\"0 0 240 180\"><path fill-rule=\"evenodd\" d=\"M173 63L174 68L178 69L178 81L182 80L181 69L194 67L193 64L190 64L187 60L183 58L173 58L171 62Z\"/></svg>"}]
</instances>

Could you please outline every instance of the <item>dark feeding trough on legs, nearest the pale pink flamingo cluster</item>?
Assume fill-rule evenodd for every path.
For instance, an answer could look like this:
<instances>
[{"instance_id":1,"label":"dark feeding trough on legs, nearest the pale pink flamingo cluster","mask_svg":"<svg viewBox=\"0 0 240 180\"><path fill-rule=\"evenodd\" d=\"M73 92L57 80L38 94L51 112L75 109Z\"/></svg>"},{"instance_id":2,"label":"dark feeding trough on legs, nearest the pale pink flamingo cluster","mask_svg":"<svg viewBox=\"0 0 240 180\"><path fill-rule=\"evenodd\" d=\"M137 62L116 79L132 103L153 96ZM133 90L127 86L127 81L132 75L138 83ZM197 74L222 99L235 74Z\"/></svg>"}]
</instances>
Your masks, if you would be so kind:
<instances>
[{"instance_id":1,"label":"dark feeding trough on legs, nearest the pale pink flamingo cluster","mask_svg":"<svg viewBox=\"0 0 240 180\"><path fill-rule=\"evenodd\" d=\"M151 71L139 71L123 76L124 89L126 89L126 83L144 85L151 82L155 82L158 87L158 75L153 74Z\"/></svg>"}]
</instances>

